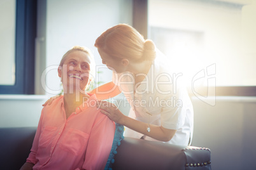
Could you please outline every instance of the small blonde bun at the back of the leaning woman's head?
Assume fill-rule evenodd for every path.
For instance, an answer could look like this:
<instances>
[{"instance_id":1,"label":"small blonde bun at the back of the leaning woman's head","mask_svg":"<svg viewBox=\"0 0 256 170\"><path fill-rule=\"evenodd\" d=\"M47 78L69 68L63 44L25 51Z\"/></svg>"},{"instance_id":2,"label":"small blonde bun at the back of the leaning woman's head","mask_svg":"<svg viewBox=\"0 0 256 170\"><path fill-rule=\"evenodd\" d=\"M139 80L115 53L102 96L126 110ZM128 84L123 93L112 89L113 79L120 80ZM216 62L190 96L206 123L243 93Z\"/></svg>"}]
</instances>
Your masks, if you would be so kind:
<instances>
[{"instance_id":1,"label":"small blonde bun at the back of the leaning woman's head","mask_svg":"<svg viewBox=\"0 0 256 170\"><path fill-rule=\"evenodd\" d=\"M144 42L143 56L145 60L155 60L155 44L152 40L146 39Z\"/></svg>"}]
</instances>

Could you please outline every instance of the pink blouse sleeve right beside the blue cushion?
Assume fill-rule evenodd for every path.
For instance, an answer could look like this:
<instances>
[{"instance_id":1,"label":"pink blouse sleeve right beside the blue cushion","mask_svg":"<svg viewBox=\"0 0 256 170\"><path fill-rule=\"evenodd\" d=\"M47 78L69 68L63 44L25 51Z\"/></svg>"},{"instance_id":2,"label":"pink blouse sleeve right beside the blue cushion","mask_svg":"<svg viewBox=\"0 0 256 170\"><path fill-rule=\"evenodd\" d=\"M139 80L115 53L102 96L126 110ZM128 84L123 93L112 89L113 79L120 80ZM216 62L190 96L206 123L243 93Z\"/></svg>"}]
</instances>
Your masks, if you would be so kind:
<instances>
[{"instance_id":1,"label":"pink blouse sleeve right beside the blue cushion","mask_svg":"<svg viewBox=\"0 0 256 170\"><path fill-rule=\"evenodd\" d=\"M115 124L106 115L99 113L90 133L83 169L104 169L110 155Z\"/></svg>"}]
</instances>

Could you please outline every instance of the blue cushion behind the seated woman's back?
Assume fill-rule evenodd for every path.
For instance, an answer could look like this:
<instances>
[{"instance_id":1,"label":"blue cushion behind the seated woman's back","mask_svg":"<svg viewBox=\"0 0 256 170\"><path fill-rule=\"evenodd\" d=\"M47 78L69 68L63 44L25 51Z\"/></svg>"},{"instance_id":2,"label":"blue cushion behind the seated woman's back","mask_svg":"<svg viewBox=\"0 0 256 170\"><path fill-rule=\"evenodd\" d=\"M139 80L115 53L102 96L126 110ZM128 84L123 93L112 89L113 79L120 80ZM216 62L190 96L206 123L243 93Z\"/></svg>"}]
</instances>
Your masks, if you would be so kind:
<instances>
[{"instance_id":1,"label":"blue cushion behind the seated woman's back","mask_svg":"<svg viewBox=\"0 0 256 170\"><path fill-rule=\"evenodd\" d=\"M122 124L115 124L115 136L110 151L110 156L104 170L111 170L112 164L115 162L115 155L117 154L117 147L120 146L121 140L124 139L124 126Z\"/></svg>"}]
</instances>

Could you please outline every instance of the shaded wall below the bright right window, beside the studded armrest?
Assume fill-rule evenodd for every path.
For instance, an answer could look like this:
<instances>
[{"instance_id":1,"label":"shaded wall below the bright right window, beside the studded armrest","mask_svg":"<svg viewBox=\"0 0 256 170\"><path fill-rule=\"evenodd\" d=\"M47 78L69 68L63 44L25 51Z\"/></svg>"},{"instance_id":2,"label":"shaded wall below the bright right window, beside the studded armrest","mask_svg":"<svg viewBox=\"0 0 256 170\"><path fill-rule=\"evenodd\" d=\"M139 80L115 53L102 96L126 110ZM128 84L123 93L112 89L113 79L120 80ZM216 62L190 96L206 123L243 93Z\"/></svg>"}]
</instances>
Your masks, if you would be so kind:
<instances>
[{"instance_id":1,"label":"shaded wall below the bright right window, beside the studded armrest","mask_svg":"<svg viewBox=\"0 0 256 170\"><path fill-rule=\"evenodd\" d=\"M192 145L210 148L212 169L252 169L256 159L256 98L217 96L211 106L193 97L192 103Z\"/></svg>"}]
</instances>

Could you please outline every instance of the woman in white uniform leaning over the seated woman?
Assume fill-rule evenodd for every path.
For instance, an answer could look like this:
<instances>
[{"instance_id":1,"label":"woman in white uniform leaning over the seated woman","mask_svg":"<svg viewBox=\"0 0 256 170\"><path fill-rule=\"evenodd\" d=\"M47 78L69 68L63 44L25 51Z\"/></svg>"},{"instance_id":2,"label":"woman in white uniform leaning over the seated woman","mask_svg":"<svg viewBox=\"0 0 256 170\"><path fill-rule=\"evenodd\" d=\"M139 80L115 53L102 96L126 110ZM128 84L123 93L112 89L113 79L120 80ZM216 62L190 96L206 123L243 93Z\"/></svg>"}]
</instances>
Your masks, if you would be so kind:
<instances>
[{"instance_id":1,"label":"woman in white uniform leaning over the seated woman","mask_svg":"<svg viewBox=\"0 0 256 170\"><path fill-rule=\"evenodd\" d=\"M101 99L124 93L131 105L129 116L108 101L98 102L103 114L126 127L124 136L190 145L192 103L179 81L180 74L165 64L166 58L153 42L145 41L130 25L118 24L103 32L95 46L103 64L113 70L113 81L92 93ZM99 91L111 92L97 94Z\"/></svg>"}]
</instances>

